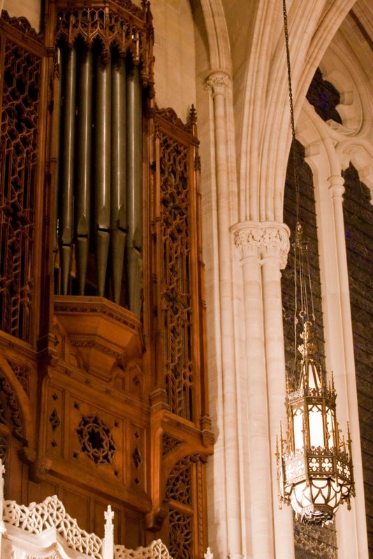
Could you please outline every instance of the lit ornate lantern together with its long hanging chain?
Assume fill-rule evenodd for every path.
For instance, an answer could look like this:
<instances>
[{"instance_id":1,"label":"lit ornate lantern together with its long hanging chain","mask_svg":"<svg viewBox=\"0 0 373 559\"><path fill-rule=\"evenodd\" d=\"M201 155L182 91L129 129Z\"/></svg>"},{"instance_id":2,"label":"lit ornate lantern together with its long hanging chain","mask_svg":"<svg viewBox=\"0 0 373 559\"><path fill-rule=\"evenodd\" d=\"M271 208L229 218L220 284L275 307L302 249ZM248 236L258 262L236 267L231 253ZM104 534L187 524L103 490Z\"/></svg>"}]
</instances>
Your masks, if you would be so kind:
<instances>
[{"instance_id":1,"label":"lit ornate lantern together with its long hanging chain","mask_svg":"<svg viewBox=\"0 0 373 559\"><path fill-rule=\"evenodd\" d=\"M288 94L291 116L292 149L295 143L293 92L288 43L286 0L283 0L286 63L288 70ZM351 460L351 437L347 426L347 441L339 437L339 426L335 410L334 380L326 386L326 375L317 366L316 346L312 342L314 305L312 299L309 262L304 256L307 243L302 242L302 226L299 215L299 182L296 158L293 152L296 200L296 231L294 242L294 286L295 286L295 338L297 324L302 325L303 343L298 346L302 355L298 389L291 391L287 385L286 411L288 430L277 441L277 472L280 502L291 504L295 515L305 523L326 524L340 504L347 502L350 509L351 496L355 495L353 466ZM307 270L305 267L307 262ZM298 291L299 289L299 291ZM300 312L297 314L298 295ZM309 302L311 312L309 312ZM296 351L295 351L296 354ZM295 372L297 370L295 355Z\"/></svg>"}]
</instances>

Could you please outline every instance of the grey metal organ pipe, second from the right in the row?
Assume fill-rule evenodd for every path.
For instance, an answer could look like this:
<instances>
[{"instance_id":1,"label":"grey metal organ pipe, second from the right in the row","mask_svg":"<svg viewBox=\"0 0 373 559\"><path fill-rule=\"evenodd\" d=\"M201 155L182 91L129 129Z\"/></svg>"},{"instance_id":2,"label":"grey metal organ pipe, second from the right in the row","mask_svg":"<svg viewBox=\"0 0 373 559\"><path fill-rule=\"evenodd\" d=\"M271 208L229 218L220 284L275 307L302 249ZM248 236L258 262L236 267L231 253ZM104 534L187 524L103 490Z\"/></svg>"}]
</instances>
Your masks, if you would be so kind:
<instances>
[{"instance_id":1,"label":"grey metal organ pipe, second from the right in the row","mask_svg":"<svg viewBox=\"0 0 373 559\"><path fill-rule=\"evenodd\" d=\"M126 244L126 65L112 64L111 269L114 302L119 304Z\"/></svg>"}]
</instances>

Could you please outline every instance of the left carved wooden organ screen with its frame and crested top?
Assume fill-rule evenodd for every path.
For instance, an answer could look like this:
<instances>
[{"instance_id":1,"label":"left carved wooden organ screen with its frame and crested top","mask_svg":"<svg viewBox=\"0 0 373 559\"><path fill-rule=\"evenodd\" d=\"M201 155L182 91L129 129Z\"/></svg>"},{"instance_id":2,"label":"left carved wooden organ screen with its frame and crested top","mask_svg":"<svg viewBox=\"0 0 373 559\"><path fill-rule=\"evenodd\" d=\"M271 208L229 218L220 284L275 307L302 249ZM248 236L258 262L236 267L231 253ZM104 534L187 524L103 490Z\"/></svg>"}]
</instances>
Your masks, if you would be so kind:
<instances>
[{"instance_id":1,"label":"left carved wooden organ screen with its frame and crested top","mask_svg":"<svg viewBox=\"0 0 373 559\"><path fill-rule=\"evenodd\" d=\"M38 331L45 50L23 18L0 20L0 329L24 342Z\"/></svg>"}]
</instances>

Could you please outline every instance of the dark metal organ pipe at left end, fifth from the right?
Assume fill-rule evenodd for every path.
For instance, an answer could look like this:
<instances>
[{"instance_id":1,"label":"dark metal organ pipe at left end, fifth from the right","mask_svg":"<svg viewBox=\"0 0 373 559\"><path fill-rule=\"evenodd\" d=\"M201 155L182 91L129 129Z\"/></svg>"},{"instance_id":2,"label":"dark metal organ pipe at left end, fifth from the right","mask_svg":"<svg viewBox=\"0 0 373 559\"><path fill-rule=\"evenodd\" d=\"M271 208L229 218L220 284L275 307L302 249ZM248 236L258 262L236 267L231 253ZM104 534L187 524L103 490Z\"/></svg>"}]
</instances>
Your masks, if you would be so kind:
<instances>
[{"instance_id":1,"label":"dark metal organ pipe at left end, fifth from the right","mask_svg":"<svg viewBox=\"0 0 373 559\"><path fill-rule=\"evenodd\" d=\"M73 187L75 140L76 52L66 51L64 124L61 152L61 271L62 293L67 294L73 242Z\"/></svg>"}]
</instances>

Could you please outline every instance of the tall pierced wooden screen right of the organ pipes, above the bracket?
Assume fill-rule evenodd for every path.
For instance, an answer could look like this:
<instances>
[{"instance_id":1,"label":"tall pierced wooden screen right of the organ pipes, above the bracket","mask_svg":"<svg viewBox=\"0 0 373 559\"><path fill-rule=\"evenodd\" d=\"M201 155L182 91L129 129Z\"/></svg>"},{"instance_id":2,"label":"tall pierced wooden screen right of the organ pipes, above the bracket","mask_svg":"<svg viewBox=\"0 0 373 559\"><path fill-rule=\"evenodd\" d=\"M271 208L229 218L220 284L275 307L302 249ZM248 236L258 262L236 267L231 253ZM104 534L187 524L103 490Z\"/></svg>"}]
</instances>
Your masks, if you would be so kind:
<instances>
[{"instance_id":1,"label":"tall pierced wooden screen right of the organ pipes, above the bracket","mask_svg":"<svg viewBox=\"0 0 373 559\"><path fill-rule=\"evenodd\" d=\"M170 412L199 424L207 390L194 109L188 125L173 110L156 111L154 143L156 382L166 390Z\"/></svg>"}]
</instances>

